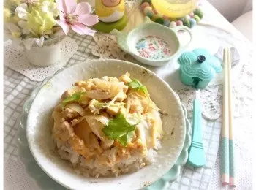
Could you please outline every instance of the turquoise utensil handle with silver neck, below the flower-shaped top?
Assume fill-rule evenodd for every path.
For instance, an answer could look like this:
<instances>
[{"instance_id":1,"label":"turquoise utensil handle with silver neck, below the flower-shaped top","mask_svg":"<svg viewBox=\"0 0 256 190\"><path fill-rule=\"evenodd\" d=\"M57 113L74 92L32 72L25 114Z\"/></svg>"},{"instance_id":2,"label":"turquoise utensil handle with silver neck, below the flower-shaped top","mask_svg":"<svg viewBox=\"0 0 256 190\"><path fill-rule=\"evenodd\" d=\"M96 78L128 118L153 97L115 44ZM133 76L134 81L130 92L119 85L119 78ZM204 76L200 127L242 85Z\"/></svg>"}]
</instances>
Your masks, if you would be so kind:
<instances>
[{"instance_id":1,"label":"turquoise utensil handle with silver neck, below the flower-shaped top","mask_svg":"<svg viewBox=\"0 0 256 190\"><path fill-rule=\"evenodd\" d=\"M200 90L195 89L195 99L193 102L192 142L189 148L189 158L187 160L187 164L192 167L203 167L206 164L206 156L203 151L201 107Z\"/></svg>"}]
</instances>

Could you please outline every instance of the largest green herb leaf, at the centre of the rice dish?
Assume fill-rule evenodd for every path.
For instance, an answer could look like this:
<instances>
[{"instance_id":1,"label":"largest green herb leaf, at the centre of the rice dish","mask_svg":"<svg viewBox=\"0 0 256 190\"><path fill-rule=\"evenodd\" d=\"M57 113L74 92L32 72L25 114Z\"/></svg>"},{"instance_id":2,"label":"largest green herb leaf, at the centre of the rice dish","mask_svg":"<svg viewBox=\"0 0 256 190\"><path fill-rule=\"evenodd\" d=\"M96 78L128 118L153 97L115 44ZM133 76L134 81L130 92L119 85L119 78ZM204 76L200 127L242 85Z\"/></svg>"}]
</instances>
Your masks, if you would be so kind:
<instances>
[{"instance_id":1,"label":"largest green herb leaf, at the centre of the rice dish","mask_svg":"<svg viewBox=\"0 0 256 190\"><path fill-rule=\"evenodd\" d=\"M136 125L131 125L124 118L124 115L119 114L113 120L110 120L107 126L104 126L102 132L109 139L118 140L121 145L126 146L127 142L132 139L135 129Z\"/></svg>"}]
</instances>

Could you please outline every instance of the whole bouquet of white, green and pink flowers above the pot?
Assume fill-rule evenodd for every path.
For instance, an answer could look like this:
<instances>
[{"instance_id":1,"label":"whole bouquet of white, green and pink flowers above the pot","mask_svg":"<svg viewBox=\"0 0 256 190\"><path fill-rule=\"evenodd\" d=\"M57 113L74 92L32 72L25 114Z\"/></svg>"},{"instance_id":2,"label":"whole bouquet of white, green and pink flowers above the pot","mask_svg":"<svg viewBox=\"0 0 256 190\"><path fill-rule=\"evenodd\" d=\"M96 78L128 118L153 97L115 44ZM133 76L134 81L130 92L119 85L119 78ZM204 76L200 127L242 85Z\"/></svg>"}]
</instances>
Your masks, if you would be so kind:
<instances>
[{"instance_id":1,"label":"whole bouquet of white, green and pink flowers above the pot","mask_svg":"<svg viewBox=\"0 0 256 190\"><path fill-rule=\"evenodd\" d=\"M6 0L4 1L4 31L10 39L27 49L45 40L67 35L69 29L81 35L93 36L88 26L98 22L91 15L91 6L75 0Z\"/></svg>"}]
</instances>

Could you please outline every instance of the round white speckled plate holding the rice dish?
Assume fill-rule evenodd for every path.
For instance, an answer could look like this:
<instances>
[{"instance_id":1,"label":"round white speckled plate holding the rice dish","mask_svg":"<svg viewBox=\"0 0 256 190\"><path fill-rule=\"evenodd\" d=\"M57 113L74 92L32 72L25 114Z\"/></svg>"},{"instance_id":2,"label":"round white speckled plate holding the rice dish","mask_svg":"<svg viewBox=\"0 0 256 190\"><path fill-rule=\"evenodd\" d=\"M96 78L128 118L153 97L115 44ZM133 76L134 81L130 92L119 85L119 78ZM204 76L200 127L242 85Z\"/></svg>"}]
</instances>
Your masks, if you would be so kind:
<instances>
[{"instance_id":1,"label":"round white speckled plate holding the rice dish","mask_svg":"<svg viewBox=\"0 0 256 190\"><path fill-rule=\"evenodd\" d=\"M75 174L67 161L60 159L50 137L51 113L61 94L73 83L89 77L120 76L130 72L147 86L151 98L165 113L165 137L156 162L138 172L118 178L86 178ZM27 139L37 164L53 180L69 189L140 189L154 183L173 167L184 145L186 122L178 96L160 77L148 69L118 60L96 60L76 64L54 75L38 92L27 120Z\"/></svg>"}]
</instances>

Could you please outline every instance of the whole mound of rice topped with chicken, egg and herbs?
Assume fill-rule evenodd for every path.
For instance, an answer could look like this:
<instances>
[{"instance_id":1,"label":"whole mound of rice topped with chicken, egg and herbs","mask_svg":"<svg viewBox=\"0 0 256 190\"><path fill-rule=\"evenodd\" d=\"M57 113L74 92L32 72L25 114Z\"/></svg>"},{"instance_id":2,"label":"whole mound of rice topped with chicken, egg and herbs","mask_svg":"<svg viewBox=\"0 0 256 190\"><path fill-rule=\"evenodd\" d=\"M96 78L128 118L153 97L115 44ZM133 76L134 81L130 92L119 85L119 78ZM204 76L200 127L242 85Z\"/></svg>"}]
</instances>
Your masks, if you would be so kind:
<instances>
[{"instance_id":1,"label":"whole mound of rice topped with chicken, egg and herbs","mask_svg":"<svg viewBox=\"0 0 256 190\"><path fill-rule=\"evenodd\" d=\"M80 174L118 176L154 161L162 137L159 108L129 73L75 83L53 111L53 140Z\"/></svg>"}]
</instances>

